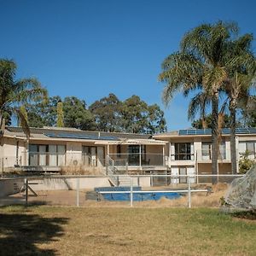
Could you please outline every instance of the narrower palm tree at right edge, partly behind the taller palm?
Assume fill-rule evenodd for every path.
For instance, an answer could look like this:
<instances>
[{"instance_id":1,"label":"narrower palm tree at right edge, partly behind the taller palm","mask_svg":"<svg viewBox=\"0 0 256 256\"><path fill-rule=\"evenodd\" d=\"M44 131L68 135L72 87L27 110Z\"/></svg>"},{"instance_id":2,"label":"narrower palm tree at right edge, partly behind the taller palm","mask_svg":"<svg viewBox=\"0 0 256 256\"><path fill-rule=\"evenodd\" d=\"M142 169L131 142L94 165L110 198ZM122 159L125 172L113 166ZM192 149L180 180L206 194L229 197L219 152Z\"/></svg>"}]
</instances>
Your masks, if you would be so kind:
<instances>
[{"instance_id":1,"label":"narrower palm tree at right edge, partly behind the taller palm","mask_svg":"<svg viewBox=\"0 0 256 256\"><path fill-rule=\"evenodd\" d=\"M229 77L224 83L224 90L229 98L230 109L230 154L232 173L237 173L236 166L236 108L239 102L247 102L250 87L255 79L256 61L251 50L253 36L245 34L230 42Z\"/></svg>"}]
</instances>

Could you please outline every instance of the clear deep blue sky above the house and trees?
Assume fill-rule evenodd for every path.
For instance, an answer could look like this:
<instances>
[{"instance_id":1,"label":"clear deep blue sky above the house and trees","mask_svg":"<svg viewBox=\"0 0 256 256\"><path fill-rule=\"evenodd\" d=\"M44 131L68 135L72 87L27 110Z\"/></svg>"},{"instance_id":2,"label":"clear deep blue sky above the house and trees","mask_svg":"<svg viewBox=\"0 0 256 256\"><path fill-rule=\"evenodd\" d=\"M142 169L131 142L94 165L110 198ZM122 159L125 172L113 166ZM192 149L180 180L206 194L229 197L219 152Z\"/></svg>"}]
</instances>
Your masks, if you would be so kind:
<instances>
[{"instance_id":1,"label":"clear deep blue sky above the house and trees","mask_svg":"<svg viewBox=\"0 0 256 256\"><path fill-rule=\"evenodd\" d=\"M254 0L0 0L0 58L49 96L90 105L109 93L137 95L160 105L168 131L186 129L189 97L177 93L168 108L161 101L162 61L201 23L236 21L256 37L255 9Z\"/></svg>"}]
</instances>

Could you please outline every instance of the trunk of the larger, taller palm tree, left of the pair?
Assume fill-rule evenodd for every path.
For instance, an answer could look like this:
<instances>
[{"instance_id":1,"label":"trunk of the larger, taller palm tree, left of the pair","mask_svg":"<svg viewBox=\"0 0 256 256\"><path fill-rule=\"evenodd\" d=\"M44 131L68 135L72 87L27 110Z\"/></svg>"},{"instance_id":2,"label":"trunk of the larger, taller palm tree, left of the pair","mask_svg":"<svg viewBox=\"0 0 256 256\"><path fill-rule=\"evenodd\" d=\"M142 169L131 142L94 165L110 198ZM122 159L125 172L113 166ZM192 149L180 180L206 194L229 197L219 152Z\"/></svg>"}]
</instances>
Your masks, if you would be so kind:
<instances>
[{"instance_id":1,"label":"trunk of the larger, taller palm tree, left of the pair","mask_svg":"<svg viewBox=\"0 0 256 256\"><path fill-rule=\"evenodd\" d=\"M218 174L218 92L212 96L212 175ZM218 183L218 177L212 176L212 184Z\"/></svg>"}]
</instances>

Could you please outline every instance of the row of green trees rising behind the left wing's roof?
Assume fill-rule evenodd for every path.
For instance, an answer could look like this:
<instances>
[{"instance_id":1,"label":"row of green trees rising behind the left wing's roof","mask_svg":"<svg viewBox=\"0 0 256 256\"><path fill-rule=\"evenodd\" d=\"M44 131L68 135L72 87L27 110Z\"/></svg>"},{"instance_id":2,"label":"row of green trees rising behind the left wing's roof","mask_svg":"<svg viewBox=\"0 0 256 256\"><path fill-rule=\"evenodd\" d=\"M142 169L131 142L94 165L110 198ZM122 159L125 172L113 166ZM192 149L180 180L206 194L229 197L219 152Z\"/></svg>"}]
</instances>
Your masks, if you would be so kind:
<instances>
[{"instance_id":1,"label":"row of green trees rising behind the left wing's roof","mask_svg":"<svg viewBox=\"0 0 256 256\"><path fill-rule=\"evenodd\" d=\"M32 127L57 125L57 108L61 97L50 97L48 102L26 104L29 125ZM125 131L158 133L166 131L164 112L157 104L148 105L139 96L124 102L109 94L87 108L83 100L68 96L62 102L63 121L66 127L90 131ZM58 125L57 125L58 126Z\"/></svg>"}]
</instances>

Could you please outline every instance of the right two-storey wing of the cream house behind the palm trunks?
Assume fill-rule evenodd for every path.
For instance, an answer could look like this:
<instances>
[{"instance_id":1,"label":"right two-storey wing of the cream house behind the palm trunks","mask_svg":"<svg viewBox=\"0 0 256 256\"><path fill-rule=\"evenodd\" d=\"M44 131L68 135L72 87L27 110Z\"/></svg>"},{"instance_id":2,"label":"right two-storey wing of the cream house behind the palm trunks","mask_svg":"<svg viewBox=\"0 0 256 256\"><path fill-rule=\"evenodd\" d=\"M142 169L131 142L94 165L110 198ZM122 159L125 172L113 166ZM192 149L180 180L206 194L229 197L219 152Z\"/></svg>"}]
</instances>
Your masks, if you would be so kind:
<instances>
[{"instance_id":1,"label":"right two-storey wing of the cream house behind the palm trunks","mask_svg":"<svg viewBox=\"0 0 256 256\"><path fill-rule=\"evenodd\" d=\"M155 139L168 142L166 151L172 175L209 175L212 173L211 129L189 129L154 135ZM256 159L256 128L236 129L236 159L247 152L248 158ZM230 129L222 129L219 143L218 174L232 174L230 160ZM186 183L186 177L174 179L174 183ZM219 177L226 181L227 177ZM198 177L195 182L207 182L209 177Z\"/></svg>"}]
</instances>

